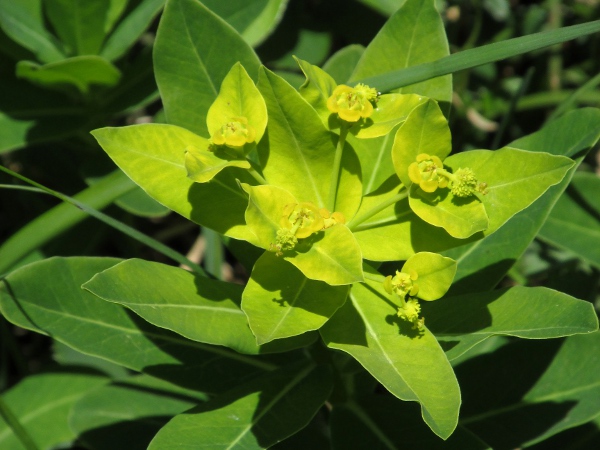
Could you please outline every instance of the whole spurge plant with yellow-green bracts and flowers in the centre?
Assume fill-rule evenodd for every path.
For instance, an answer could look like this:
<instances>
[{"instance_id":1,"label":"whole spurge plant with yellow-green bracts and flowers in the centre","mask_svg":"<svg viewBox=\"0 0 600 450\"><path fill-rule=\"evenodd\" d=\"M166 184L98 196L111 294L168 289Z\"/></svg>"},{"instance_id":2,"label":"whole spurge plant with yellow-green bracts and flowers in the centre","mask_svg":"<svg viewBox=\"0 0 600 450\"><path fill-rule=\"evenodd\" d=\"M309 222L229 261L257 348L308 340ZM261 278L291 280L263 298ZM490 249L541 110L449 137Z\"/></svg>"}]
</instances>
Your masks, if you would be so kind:
<instances>
[{"instance_id":1,"label":"whole spurge plant with yellow-green bracts and flowers in the centre","mask_svg":"<svg viewBox=\"0 0 600 450\"><path fill-rule=\"evenodd\" d=\"M219 45L203 49L201 32L180 40L181 14L217 33ZM407 17L428 30L410 44ZM181 46L178 64L165 63L168 42ZM418 402L447 439L461 405L451 360L492 335L597 329L592 305L566 294L492 291L508 267L469 256L502 257L497 234L514 236L515 248L533 238L511 223L543 221L583 150L549 136L587 119L573 113L499 150L452 153L449 76L386 90L373 82L402 68L390 55L406 45L424 60L448 53L433 1L407 1L343 82L298 59L306 80L295 89L200 3L167 3L154 57L168 124L92 134L155 200L260 256L244 286L135 259L47 262L62 265L73 289L82 285L86 307L120 314L115 339L132 324L143 331L113 353L64 341L219 393L171 419L151 449L266 448L323 405L334 416L356 408L372 380L397 402ZM38 312L15 300L28 270L8 277L3 312L36 329ZM54 334L50 324L44 331Z\"/></svg>"}]
</instances>

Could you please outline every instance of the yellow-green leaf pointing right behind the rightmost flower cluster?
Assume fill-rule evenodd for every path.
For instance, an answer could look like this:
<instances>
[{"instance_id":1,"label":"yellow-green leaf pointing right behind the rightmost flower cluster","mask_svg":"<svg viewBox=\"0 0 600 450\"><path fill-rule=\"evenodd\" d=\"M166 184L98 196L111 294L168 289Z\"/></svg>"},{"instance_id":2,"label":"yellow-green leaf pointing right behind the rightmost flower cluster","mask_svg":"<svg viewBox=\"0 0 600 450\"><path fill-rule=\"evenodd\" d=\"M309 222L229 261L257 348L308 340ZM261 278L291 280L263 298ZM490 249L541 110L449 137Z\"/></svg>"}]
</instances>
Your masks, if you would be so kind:
<instances>
[{"instance_id":1,"label":"yellow-green leaf pointing right behind the rightmost flower cluster","mask_svg":"<svg viewBox=\"0 0 600 450\"><path fill-rule=\"evenodd\" d=\"M487 183L488 192L481 200L490 219L485 233L491 234L558 184L574 162L564 156L505 147L459 153L444 164L453 172L469 167L479 181Z\"/></svg>"}]
</instances>

